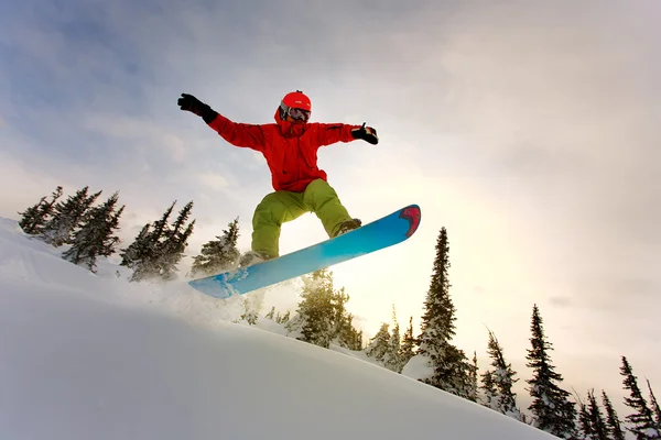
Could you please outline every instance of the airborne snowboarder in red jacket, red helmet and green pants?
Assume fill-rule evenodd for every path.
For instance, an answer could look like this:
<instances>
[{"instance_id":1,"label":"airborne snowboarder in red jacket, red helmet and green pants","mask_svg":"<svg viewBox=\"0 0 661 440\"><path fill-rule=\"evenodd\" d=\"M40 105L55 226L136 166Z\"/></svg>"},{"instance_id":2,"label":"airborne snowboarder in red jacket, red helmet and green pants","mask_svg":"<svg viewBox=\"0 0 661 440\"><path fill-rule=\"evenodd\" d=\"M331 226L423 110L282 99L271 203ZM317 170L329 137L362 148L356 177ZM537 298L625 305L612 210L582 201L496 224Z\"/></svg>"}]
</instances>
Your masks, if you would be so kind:
<instances>
[{"instance_id":1,"label":"airborne snowboarder in red jacket, red helmet and green pants","mask_svg":"<svg viewBox=\"0 0 661 440\"><path fill-rule=\"evenodd\" d=\"M357 139L376 145L379 138L375 129L365 123L308 122L312 103L300 90L282 98L275 110L275 123L269 124L232 122L187 94L182 94L177 105L181 110L201 117L230 144L262 153L271 170L275 191L268 194L254 209L251 252L241 260L241 266L278 257L282 223L305 212L318 217L328 238L361 226L359 219L349 216L327 183L326 173L317 167L317 150Z\"/></svg>"}]
</instances>

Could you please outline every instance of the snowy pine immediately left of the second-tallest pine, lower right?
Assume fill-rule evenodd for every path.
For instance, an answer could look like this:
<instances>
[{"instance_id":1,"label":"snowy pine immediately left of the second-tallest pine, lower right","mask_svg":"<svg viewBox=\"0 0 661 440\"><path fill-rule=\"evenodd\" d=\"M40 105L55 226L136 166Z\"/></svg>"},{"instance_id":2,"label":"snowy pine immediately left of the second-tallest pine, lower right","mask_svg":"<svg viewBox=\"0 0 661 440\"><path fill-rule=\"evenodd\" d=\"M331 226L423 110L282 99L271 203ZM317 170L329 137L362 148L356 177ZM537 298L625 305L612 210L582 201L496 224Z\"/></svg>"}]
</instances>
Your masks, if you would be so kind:
<instances>
[{"instance_id":1,"label":"snowy pine immediately left of the second-tallest pine, lower right","mask_svg":"<svg viewBox=\"0 0 661 440\"><path fill-rule=\"evenodd\" d=\"M521 420L521 411L517 407L517 395L512 392L513 385L519 381L514 378L517 372L512 370L511 363L506 362L502 346L491 330L489 330L487 353L491 358L492 366L487 373L489 373L489 380L496 391L496 394L489 398L490 408L513 419Z\"/></svg>"}]
</instances>

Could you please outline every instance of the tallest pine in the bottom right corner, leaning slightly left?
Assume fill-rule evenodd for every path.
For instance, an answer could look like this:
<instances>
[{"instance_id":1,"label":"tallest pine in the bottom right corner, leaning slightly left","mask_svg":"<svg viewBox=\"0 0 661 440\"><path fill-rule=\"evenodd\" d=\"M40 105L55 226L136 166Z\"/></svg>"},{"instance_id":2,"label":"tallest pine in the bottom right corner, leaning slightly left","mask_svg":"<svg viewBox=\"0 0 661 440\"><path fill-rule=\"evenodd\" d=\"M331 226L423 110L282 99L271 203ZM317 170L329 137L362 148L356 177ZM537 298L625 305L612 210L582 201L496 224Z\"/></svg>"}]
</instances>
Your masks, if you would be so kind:
<instances>
[{"instance_id":1,"label":"tallest pine in the bottom right corner, leaning slightly left","mask_svg":"<svg viewBox=\"0 0 661 440\"><path fill-rule=\"evenodd\" d=\"M625 397L625 405L635 411L626 417L627 421L630 424L627 429L632 432L638 440L660 439L661 432L654 421L652 410L648 406L644 397L642 397L642 393L638 387L638 378L633 375L633 370L631 369L629 361L627 361L627 358L621 356L621 359L622 366L620 367L620 374L625 377L625 389L629 389L630 392L630 397Z\"/></svg>"}]
</instances>

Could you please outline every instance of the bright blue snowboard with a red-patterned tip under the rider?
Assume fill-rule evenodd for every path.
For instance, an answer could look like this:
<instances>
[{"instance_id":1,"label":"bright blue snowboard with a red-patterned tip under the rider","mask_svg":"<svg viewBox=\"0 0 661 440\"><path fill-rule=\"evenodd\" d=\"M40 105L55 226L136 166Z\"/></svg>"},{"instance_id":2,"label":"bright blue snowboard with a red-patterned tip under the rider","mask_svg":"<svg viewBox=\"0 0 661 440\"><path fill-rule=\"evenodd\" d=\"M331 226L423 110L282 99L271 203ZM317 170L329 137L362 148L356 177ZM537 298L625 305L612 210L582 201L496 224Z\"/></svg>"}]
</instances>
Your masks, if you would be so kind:
<instances>
[{"instance_id":1,"label":"bright blue snowboard with a red-patterned tip under the rider","mask_svg":"<svg viewBox=\"0 0 661 440\"><path fill-rule=\"evenodd\" d=\"M252 266L193 279L188 284L216 298L246 294L400 243L413 235L420 218L420 207L410 205L310 248Z\"/></svg>"}]
</instances>

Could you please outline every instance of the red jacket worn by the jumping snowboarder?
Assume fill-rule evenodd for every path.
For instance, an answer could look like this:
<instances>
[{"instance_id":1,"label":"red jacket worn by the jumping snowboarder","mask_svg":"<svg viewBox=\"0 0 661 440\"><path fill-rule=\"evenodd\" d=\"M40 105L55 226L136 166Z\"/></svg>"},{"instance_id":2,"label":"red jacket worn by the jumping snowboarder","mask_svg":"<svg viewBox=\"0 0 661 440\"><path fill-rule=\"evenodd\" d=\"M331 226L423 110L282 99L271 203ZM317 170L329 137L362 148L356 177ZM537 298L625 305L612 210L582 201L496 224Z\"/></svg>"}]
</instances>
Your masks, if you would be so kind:
<instances>
[{"instance_id":1,"label":"red jacket worn by the jumping snowboarder","mask_svg":"<svg viewBox=\"0 0 661 440\"><path fill-rule=\"evenodd\" d=\"M237 123L218 114L209 127L230 144L263 154L277 191L303 193L311 182L326 180L326 173L317 167L317 150L336 142L354 141L351 130L360 128L342 123L291 123L281 120L278 110L275 122Z\"/></svg>"}]
</instances>

